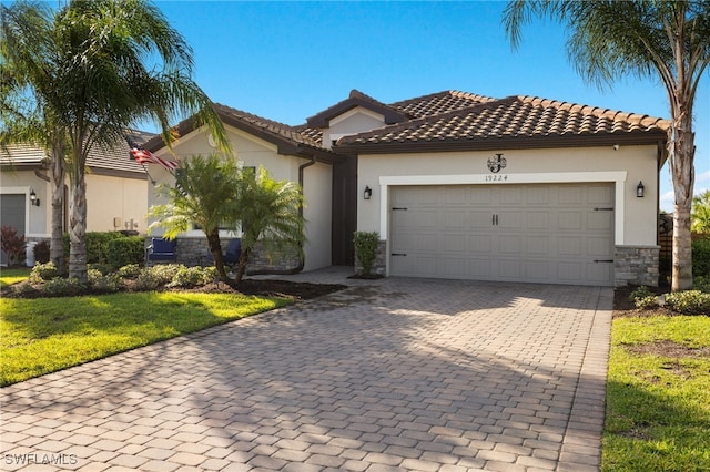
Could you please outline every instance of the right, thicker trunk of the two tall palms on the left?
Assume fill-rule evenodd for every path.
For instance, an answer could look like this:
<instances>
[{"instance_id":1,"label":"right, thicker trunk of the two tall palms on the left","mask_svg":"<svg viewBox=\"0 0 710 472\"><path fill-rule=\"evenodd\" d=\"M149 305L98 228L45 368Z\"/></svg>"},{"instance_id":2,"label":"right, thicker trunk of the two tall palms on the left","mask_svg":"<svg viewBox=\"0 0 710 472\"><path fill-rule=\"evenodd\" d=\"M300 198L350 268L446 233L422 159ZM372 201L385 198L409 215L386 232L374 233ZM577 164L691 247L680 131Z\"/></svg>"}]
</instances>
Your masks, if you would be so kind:
<instances>
[{"instance_id":1,"label":"right, thicker trunk of the two tall palms on the left","mask_svg":"<svg viewBox=\"0 0 710 472\"><path fill-rule=\"evenodd\" d=\"M87 181L83 168L74 170L69 197L69 277L80 283L88 281L87 276Z\"/></svg>"}]
</instances>

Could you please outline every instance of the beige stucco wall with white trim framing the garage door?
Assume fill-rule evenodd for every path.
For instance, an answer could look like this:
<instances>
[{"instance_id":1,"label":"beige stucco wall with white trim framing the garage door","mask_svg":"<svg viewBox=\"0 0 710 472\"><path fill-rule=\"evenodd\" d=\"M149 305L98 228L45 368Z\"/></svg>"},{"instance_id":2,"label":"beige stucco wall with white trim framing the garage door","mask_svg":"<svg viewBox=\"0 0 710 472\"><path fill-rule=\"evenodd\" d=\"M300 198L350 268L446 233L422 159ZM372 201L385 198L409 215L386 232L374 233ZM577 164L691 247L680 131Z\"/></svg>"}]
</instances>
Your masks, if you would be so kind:
<instances>
[{"instance_id":1,"label":"beige stucco wall with white trim framing the garage door","mask_svg":"<svg viewBox=\"0 0 710 472\"><path fill-rule=\"evenodd\" d=\"M494 174L487 167L487 161L501 153L506 167ZM436 176L446 183L449 176L469 177L467 184L506 185L520 183L551 183L559 178L576 178L577 182L619 178L616 188L615 211L617 245L652 246L657 239L657 147L621 146L618 151L611 146L505 151L498 152L456 152L438 154L394 154L361 155L358 160L358 199L357 229L387 233L386 198L388 186L396 178L413 176L420 182L434 183ZM490 176L507 177L490 182ZM622 176L622 177L620 177ZM416 179L415 178L415 179ZM645 185L645 197L636 197L639 181ZM362 198L365 186L373 188L369 201Z\"/></svg>"}]
</instances>

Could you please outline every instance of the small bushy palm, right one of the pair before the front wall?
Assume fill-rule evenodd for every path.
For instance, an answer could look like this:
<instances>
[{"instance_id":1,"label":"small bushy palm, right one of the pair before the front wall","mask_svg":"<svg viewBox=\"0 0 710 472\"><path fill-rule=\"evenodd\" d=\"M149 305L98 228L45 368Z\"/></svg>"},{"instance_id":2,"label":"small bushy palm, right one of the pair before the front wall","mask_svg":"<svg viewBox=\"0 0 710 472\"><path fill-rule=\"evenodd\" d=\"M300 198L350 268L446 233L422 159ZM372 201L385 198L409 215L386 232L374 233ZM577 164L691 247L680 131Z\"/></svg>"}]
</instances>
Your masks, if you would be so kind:
<instances>
[{"instance_id":1,"label":"small bushy palm, right one of the pair before the front wall","mask_svg":"<svg viewBox=\"0 0 710 472\"><path fill-rule=\"evenodd\" d=\"M275 181L261 167L241 174L237 207L242 228L242 254L235 283L246 273L248 256L261 240L267 252L296 250L303 258L305 220L302 212L303 193L298 184Z\"/></svg>"}]
</instances>

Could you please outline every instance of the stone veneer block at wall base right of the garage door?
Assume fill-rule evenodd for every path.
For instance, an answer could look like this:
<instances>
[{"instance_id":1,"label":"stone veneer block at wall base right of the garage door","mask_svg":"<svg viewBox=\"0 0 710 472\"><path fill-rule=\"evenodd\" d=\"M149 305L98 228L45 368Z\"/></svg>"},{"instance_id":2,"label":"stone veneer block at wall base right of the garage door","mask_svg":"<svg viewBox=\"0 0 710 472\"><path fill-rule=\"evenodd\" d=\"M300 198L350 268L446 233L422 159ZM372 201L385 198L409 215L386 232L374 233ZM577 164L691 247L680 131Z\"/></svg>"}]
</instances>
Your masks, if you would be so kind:
<instances>
[{"instance_id":1,"label":"stone veneer block at wall base right of the garage door","mask_svg":"<svg viewBox=\"0 0 710 472\"><path fill-rule=\"evenodd\" d=\"M660 246L617 246L613 284L658 287Z\"/></svg>"}]
</instances>

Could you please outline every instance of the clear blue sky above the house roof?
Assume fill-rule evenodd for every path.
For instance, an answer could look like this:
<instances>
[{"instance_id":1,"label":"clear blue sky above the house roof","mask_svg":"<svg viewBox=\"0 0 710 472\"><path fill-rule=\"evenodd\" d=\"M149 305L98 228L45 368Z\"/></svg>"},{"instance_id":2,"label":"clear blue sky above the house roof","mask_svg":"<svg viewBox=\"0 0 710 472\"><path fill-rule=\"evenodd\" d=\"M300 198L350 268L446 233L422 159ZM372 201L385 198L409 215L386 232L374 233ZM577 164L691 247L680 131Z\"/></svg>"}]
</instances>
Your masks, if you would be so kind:
<instances>
[{"instance_id":1,"label":"clear blue sky above the house roof","mask_svg":"<svg viewBox=\"0 0 710 472\"><path fill-rule=\"evenodd\" d=\"M158 1L194 49L195 79L219 103L295 125L357 89L392 103L444 90L534 95L668 117L655 80L599 91L569 62L565 30L527 25L514 51L505 2ZM710 72L696 101L696 194L710 188ZM661 207L672 211L668 168Z\"/></svg>"}]
</instances>

